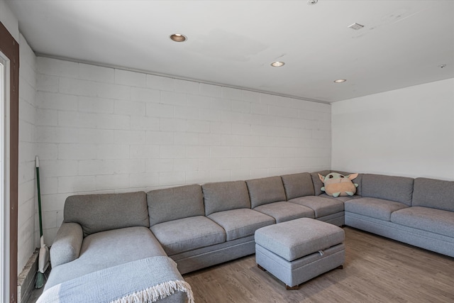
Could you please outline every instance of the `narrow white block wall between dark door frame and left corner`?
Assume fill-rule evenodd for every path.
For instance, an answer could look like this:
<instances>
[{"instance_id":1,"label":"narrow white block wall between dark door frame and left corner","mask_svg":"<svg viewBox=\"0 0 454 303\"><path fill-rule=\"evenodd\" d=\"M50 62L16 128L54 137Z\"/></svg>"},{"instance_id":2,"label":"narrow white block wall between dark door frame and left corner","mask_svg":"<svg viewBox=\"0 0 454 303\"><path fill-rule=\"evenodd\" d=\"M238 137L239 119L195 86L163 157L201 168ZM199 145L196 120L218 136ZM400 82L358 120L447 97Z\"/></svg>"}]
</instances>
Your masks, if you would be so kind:
<instances>
[{"instance_id":1,"label":"narrow white block wall between dark door frame and left corner","mask_svg":"<svg viewBox=\"0 0 454 303\"><path fill-rule=\"evenodd\" d=\"M36 57L23 35L19 45L18 272L21 272L38 247L39 225L35 196Z\"/></svg>"}]
</instances>

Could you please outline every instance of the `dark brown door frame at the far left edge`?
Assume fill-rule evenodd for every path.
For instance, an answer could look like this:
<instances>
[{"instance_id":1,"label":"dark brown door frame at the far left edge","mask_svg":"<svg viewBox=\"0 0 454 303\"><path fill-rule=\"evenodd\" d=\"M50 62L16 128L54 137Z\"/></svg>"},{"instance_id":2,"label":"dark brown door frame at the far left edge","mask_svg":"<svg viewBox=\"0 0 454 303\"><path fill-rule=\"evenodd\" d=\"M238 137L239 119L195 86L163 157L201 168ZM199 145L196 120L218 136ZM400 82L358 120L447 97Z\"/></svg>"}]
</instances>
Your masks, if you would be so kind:
<instances>
[{"instance_id":1,"label":"dark brown door frame at the far left edge","mask_svg":"<svg viewBox=\"0 0 454 303\"><path fill-rule=\"evenodd\" d=\"M0 22L0 51L10 61L9 87L9 302L17 302L18 249L18 145L19 145L19 44Z\"/></svg>"}]
</instances>

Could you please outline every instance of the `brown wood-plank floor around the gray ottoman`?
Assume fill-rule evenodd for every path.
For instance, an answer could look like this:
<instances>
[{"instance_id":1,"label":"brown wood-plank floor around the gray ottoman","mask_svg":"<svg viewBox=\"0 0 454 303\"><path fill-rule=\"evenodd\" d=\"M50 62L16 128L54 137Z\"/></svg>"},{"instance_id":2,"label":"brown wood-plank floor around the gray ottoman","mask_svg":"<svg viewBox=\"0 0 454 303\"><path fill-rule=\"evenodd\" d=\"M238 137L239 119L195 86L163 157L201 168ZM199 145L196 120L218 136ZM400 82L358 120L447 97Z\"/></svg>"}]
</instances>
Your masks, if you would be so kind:
<instances>
[{"instance_id":1,"label":"brown wood-plank floor around the gray ottoman","mask_svg":"<svg viewBox=\"0 0 454 303\"><path fill-rule=\"evenodd\" d=\"M454 258L345 227L343 270L285 290L255 256L184 275L196 303L454 302Z\"/></svg>"}]
</instances>

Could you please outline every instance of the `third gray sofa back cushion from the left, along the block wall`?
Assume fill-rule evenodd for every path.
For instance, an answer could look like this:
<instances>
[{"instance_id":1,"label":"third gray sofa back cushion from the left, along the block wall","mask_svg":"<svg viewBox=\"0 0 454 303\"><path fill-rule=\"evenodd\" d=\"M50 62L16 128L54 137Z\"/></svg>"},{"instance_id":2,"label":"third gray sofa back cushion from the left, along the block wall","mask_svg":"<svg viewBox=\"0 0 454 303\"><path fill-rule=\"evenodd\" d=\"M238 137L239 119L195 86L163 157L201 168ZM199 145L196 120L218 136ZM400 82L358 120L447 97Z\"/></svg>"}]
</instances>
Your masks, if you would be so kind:
<instances>
[{"instance_id":1,"label":"third gray sofa back cushion from the left, along the block wall","mask_svg":"<svg viewBox=\"0 0 454 303\"><path fill-rule=\"evenodd\" d=\"M204 192L205 215L218 211L250 208L248 187L245 181L206 183Z\"/></svg>"}]
</instances>

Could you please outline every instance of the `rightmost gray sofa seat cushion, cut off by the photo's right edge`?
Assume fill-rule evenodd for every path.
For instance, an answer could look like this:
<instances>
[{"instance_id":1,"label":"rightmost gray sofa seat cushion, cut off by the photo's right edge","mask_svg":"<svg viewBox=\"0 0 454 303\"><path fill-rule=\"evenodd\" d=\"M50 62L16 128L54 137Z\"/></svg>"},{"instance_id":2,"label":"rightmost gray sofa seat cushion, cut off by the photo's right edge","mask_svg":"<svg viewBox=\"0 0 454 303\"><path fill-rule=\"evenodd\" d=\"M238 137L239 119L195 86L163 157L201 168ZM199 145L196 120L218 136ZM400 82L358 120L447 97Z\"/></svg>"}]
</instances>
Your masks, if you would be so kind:
<instances>
[{"instance_id":1,"label":"rightmost gray sofa seat cushion, cut off by the photo's right edge","mask_svg":"<svg viewBox=\"0 0 454 303\"><path fill-rule=\"evenodd\" d=\"M422 206L412 206L394 211L391 221L411 228L431 231L443 236L454 236L454 212L442 209L431 209Z\"/></svg>"}]
</instances>

